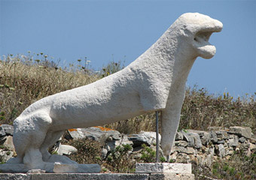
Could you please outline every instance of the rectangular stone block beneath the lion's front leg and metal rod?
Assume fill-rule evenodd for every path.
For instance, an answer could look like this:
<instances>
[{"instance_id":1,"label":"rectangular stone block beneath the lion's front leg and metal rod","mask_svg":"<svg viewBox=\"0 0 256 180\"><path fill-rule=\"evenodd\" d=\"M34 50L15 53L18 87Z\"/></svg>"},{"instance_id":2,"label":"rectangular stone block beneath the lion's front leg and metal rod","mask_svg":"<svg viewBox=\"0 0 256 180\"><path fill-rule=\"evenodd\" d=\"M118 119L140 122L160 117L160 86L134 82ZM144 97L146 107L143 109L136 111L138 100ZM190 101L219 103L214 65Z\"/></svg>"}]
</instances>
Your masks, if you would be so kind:
<instances>
[{"instance_id":1,"label":"rectangular stone block beneath the lion's front leg and metal rod","mask_svg":"<svg viewBox=\"0 0 256 180\"><path fill-rule=\"evenodd\" d=\"M136 173L191 174L190 163L136 163Z\"/></svg>"}]
</instances>

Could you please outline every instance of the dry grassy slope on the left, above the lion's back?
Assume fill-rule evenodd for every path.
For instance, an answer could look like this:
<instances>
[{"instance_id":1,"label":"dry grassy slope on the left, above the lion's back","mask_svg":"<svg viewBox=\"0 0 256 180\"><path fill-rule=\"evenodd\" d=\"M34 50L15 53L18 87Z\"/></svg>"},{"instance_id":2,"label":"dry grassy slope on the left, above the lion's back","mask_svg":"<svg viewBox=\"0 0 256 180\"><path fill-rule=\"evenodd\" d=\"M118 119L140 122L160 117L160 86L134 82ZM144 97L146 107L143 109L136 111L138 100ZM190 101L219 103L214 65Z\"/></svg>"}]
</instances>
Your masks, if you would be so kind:
<instances>
[{"instance_id":1,"label":"dry grassy slope on the left, above the lion's back","mask_svg":"<svg viewBox=\"0 0 256 180\"><path fill-rule=\"evenodd\" d=\"M17 115L41 98L99 79L83 69L50 67L53 63L47 59L35 60L9 55L0 62L0 124L12 124Z\"/></svg>"}]
</instances>

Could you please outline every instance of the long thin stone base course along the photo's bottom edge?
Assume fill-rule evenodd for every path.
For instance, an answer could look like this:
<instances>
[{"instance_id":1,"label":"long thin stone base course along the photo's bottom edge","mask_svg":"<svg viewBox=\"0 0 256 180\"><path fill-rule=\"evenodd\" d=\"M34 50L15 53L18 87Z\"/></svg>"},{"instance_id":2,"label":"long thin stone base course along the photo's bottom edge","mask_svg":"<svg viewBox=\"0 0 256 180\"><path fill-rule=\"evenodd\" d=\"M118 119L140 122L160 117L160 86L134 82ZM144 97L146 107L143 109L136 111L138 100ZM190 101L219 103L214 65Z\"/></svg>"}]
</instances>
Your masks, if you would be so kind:
<instances>
[{"instance_id":1,"label":"long thin stone base course along the photo's bottom edge","mask_svg":"<svg viewBox=\"0 0 256 180\"><path fill-rule=\"evenodd\" d=\"M84 174L84 173L0 173L1 180L194 180L193 174Z\"/></svg>"}]
</instances>

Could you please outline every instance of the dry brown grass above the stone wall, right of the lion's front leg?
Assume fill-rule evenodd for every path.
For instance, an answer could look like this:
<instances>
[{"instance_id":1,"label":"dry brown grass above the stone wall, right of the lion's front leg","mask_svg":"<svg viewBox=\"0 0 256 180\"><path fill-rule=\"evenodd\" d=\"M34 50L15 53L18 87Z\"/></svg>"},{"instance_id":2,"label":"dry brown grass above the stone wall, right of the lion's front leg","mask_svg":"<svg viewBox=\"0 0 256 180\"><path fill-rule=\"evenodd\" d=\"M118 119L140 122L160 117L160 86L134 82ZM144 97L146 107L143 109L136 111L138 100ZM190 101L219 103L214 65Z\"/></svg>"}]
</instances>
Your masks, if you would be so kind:
<instances>
[{"instance_id":1,"label":"dry brown grass above the stone wall, right of the lion's front leg","mask_svg":"<svg viewBox=\"0 0 256 180\"><path fill-rule=\"evenodd\" d=\"M207 130L209 126L251 127L256 132L256 94L234 99L228 93L214 97L205 89L187 89L180 127Z\"/></svg>"}]
</instances>

